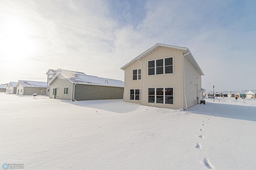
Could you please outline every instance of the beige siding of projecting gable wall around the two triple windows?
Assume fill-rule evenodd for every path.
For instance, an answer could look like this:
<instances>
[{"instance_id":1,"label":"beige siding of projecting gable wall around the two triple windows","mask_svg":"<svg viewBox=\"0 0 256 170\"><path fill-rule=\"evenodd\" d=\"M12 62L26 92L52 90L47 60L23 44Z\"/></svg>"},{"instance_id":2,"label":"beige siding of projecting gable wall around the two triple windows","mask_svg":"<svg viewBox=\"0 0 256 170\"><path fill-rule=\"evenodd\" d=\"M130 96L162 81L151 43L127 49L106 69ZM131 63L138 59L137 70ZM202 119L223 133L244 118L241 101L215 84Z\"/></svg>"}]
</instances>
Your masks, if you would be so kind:
<instances>
[{"instance_id":1,"label":"beige siding of projecting gable wall around the two triple windows","mask_svg":"<svg viewBox=\"0 0 256 170\"><path fill-rule=\"evenodd\" d=\"M148 61L173 57L174 71L171 74L148 75ZM142 105L183 108L182 51L158 47L142 59ZM174 88L174 104L148 103L148 88Z\"/></svg>"}]
</instances>

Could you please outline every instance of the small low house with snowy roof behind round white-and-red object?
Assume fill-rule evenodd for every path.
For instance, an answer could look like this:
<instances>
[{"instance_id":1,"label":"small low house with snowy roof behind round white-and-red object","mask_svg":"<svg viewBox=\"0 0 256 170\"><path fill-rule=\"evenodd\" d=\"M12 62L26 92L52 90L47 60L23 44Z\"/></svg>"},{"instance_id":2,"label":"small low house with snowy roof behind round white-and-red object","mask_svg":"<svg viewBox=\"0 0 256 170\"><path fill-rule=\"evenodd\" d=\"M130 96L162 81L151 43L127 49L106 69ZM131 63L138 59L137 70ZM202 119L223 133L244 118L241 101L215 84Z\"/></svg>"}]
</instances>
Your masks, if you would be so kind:
<instances>
[{"instance_id":1,"label":"small low house with snowy roof behind round white-and-red object","mask_svg":"<svg viewBox=\"0 0 256 170\"><path fill-rule=\"evenodd\" d=\"M16 88L19 95L46 95L46 82L19 80Z\"/></svg>"}]
</instances>

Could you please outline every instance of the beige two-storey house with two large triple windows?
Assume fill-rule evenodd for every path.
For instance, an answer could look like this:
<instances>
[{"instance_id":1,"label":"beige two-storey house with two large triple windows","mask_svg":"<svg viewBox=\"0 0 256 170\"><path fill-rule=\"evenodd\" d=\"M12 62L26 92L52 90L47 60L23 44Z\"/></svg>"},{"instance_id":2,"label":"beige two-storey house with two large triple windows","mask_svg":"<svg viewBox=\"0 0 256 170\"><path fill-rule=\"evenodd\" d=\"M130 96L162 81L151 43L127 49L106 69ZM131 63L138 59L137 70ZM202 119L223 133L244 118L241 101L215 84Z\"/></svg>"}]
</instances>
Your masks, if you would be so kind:
<instances>
[{"instance_id":1,"label":"beige two-storey house with two large triple windows","mask_svg":"<svg viewBox=\"0 0 256 170\"><path fill-rule=\"evenodd\" d=\"M186 47L157 43L121 69L126 102L186 109L203 99L204 73Z\"/></svg>"}]
</instances>

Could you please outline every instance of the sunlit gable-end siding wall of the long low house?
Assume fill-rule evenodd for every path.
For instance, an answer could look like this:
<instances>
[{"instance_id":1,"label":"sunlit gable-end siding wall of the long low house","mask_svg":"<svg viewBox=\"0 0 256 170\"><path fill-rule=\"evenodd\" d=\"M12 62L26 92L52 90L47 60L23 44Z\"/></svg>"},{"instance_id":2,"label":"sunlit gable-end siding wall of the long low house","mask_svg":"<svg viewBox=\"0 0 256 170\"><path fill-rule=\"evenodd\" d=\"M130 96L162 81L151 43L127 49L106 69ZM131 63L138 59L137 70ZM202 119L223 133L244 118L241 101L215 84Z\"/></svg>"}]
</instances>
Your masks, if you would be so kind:
<instances>
[{"instance_id":1,"label":"sunlit gable-end siding wall of the long low house","mask_svg":"<svg viewBox=\"0 0 256 170\"><path fill-rule=\"evenodd\" d=\"M68 87L68 95L64 94L64 87ZM59 74L53 82L50 84L50 95L49 98L52 98L53 88L57 88L57 99L62 100L72 100L73 99L73 83L70 82L67 78Z\"/></svg>"}]
</instances>

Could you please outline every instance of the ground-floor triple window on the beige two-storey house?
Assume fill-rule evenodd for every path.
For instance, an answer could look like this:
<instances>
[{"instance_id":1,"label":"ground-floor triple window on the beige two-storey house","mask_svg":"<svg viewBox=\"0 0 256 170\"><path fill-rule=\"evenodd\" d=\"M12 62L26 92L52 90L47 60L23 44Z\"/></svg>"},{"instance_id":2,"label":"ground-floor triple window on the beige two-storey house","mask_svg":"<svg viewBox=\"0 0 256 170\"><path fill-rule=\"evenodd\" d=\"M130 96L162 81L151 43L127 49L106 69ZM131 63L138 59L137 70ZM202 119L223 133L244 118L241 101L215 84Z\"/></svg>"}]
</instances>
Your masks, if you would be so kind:
<instances>
[{"instance_id":1,"label":"ground-floor triple window on the beige two-storey house","mask_svg":"<svg viewBox=\"0 0 256 170\"><path fill-rule=\"evenodd\" d=\"M148 88L148 103L174 104L173 88Z\"/></svg>"}]
</instances>

